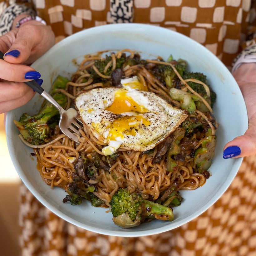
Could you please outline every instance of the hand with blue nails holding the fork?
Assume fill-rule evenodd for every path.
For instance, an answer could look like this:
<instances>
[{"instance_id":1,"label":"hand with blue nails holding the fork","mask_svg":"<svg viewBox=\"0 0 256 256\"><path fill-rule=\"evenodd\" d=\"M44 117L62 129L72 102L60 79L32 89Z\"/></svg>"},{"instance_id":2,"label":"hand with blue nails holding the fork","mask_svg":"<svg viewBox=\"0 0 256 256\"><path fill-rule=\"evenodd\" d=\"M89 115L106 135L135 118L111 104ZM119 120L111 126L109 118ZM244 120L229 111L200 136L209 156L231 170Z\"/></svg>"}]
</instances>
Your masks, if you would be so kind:
<instances>
[{"instance_id":1,"label":"hand with blue nails holding the fork","mask_svg":"<svg viewBox=\"0 0 256 256\"><path fill-rule=\"evenodd\" d=\"M28 65L54 42L52 29L34 20L0 37L0 50L5 53L4 60L0 60L0 114L26 104L34 96L35 92L23 82L36 80L40 74Z\"/></svg>"}]
</instances>

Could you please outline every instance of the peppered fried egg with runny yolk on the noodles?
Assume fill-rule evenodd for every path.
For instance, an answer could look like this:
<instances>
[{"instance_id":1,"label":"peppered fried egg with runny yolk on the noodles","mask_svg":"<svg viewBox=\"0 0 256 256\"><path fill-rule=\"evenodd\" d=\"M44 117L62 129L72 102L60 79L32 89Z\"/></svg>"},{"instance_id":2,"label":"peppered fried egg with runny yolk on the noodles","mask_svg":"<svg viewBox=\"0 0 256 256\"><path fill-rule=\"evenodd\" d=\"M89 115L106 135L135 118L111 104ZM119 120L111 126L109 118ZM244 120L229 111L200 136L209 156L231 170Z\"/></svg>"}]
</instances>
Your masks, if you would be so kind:
<instances>
[{"instance_id":1,"label":"peppered fried egg with runny yolk on the noodles","mask_svg":"<svg viewBox=\"0 0 256 256\"><path fill-rule=\"evenodd\" d=\"M135 78L133 78L135 81ZM171 106L153 92L138 90L121 81L121 88L96 88L81 92L75 105L82 121L94 135L105 138L104 155L119 147L146 151L170 135L186 118L187 112Z\"/></svg>"}]
</instances>

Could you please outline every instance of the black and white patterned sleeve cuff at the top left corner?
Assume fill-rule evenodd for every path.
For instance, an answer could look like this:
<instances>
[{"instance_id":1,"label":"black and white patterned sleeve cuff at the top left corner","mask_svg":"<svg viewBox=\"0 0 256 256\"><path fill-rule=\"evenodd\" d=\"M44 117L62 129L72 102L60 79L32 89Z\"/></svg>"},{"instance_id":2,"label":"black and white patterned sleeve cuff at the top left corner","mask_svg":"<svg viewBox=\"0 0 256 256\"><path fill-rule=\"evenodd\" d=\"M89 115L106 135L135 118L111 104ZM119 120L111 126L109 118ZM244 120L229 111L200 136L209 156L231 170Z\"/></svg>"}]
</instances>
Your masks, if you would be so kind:
<instances>
[{"instance_id":1,"label":"black and white patterned sleeve cuff at the top left corner","mask_svg":"<svg viewBox=\"0 0 256 256\"><path fill-rule=\"evenodd\" d=\"M36 12L22 4L12 4L5 8L0 16L0 36L9 32L12 27L13 20L20 14L36 15Z\"/></svg>"}]
</instances>

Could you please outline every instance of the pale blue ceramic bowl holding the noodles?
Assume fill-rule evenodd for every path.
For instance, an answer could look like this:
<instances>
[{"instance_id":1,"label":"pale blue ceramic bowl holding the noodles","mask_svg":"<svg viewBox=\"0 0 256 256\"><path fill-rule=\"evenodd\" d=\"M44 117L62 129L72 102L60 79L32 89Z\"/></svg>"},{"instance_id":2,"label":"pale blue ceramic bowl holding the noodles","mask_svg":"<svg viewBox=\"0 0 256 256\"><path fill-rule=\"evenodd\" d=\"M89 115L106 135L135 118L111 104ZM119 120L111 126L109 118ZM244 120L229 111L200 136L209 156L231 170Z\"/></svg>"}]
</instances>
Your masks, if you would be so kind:
<instances>
[{"instance_id":1,"label":"pale blue ceramic bowl holding the noodles","mask_svg":"<svg viewBox=\"0 0 256 256\"><path fill-rule=\"evenodd\" d=\"M172 222L155 220L132 229L122 229L112 221L112 214L106 209L95 208L89 202L81 205L63 204L66 196L60 188L51 189L41 179L37 163L30 155L32 149L18 138L18 130L13 119L19 120L24 112L35 114L42 103L36 95L27 105L7 114L7 144L13 164L27 188L52 212L81 228L101 234L116 236L142 236L165 232L181 226L207 210L228 188L234 179L242 159L223 159L224 145L247 129L247 112L244 99L237 83L228 69L199 43L171 30L142 24L116 24L95 27L76 33L56 44L32 65L44 80L43 87L50 89L58 74L70 76L85 54L105 50L130 48L141 53L142 57L161 56L167 59L170 54L175 59L182 58L189 63L191 71L203 72L217 93L214 115L219 122L217 147L210 171L212 176L206 184L194 191L181 191L184 201L174 208Z\"/></svg>"}]
</instances>

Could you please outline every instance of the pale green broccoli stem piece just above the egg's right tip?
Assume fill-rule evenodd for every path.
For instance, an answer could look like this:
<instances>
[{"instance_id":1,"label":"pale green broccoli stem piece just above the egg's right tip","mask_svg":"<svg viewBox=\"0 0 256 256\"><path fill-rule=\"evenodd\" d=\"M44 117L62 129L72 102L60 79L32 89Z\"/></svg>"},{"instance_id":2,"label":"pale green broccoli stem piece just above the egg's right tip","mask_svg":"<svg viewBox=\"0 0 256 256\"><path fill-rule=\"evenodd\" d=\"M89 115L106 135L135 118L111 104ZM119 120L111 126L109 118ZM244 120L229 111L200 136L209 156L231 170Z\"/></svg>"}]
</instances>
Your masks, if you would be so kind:
<instances>
[{"instance_id":1,"label":"pale green broccoli stem piece just above the egg's right tip","mask_svg":"<svg viewBox=\"0 0 256 256\"><path fill-rule=\"evenodd\" d=\"M198 96L176 88L171 88L169 90L169 94L172 99L180 101L181 108L187 110L189 114L193 113L196 110L195 101L199 101Z\"/></svg>"}]
</instances>

